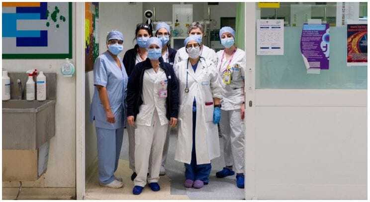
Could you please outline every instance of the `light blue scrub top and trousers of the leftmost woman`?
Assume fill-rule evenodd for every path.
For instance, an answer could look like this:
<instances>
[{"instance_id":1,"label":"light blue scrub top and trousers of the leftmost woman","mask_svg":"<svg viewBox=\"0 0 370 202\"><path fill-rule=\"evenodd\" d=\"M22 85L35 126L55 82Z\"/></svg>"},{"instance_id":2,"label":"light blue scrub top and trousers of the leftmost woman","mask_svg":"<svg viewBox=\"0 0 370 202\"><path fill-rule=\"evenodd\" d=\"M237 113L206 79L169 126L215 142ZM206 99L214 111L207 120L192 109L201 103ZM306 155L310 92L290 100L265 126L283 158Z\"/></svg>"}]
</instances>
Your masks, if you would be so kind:
<instances>
[{"instance_id":1,"label":"light blue scrub top and trousers of the leftmost woman","mask_svg":"<svg viewBox=\"0 0 370 202\"><path fill-rule=\"evenodd\" d=\"M93 68L94 85L103 86L107 90L108 99L115 123L106 121L106 113L100 101L99 93L94 88L90 108L90 120L95 120L97 136L97 152L99 164L99 181L111 183L117 170L119 153L123 140L123 128L126 120L126 96L128 77L123 66L118 67L108 51L96 58Z\"/></svg>"}]
</instances>

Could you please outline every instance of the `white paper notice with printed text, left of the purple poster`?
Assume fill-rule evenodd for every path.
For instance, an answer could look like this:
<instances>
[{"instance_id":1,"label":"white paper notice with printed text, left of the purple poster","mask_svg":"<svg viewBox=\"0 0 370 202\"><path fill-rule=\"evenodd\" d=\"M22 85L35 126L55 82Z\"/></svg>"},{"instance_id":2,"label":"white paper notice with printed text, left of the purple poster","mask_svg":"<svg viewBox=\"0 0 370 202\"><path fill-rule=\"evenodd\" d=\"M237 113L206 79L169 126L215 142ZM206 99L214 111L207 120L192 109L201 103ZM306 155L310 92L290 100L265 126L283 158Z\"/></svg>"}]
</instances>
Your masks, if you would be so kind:
<instances>
[{"instance_id":1,"label":"white paper notice with printed text, left of the purple poster","mask_svg":"<svg viewBox=\"0 0 370 202\"><path fill-rule=\"evenodd\" d=\"M284 55L284 20L257 20L257 55Z\"/></svg>"}]
</instances>

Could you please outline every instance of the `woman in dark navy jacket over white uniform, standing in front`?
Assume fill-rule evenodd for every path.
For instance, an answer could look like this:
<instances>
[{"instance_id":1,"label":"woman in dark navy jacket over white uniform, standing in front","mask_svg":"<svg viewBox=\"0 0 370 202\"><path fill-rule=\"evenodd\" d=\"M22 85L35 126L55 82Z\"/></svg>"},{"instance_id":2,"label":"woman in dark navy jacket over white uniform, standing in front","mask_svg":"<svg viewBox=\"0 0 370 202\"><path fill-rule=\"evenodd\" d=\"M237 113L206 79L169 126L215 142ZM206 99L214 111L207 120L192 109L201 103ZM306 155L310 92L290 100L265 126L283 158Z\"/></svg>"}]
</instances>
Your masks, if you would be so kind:
<instances>
[{"instance_id":1,"label":"woman in dark navy jacket over white uniform, standing in front","mask_svg":"<svg viewBox=\"0 0 370 202\"><path fill-rule=\"evenodd\" d=\"M172 65L161 58L161 40L148 39L147 49L148 58L136 65L127 86L127 123L137 127L134 195L142 192L147 180L152 191L160 190L158 180L166 132L168 124L176 126L179 113L178 82Z\"/></svg>"}]
</instances>

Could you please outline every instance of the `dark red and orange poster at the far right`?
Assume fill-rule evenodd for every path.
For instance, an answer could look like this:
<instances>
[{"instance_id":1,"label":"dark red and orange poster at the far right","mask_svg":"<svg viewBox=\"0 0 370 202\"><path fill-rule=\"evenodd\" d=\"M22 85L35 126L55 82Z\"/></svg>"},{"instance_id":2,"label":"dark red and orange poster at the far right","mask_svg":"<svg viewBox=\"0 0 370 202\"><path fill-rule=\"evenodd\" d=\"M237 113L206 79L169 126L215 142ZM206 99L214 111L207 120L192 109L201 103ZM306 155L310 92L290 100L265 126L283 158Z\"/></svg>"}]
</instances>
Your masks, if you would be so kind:
<instances>
[{"instance_id":1,"label":"dark red and orange poster at the far right","mask_svg":"<svg viewBox=\"0 0 370 202\"><path fill-rule=\"evenodd\" d=\"M368 64L368 24L347 24L347 66Z\"/></svg>"}]
</instances>

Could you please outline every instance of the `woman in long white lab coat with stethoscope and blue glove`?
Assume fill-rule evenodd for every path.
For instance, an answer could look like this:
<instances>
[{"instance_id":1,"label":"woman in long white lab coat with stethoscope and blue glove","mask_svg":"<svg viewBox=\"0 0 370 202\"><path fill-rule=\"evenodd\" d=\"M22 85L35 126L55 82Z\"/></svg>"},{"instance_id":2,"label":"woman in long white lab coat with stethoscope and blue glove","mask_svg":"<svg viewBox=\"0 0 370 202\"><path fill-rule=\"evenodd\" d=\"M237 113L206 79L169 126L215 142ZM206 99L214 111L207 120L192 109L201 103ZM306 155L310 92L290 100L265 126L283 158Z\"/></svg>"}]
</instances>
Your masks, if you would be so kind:
<instances>
[{"instance_id":1,"label":"woman in long white lab coat with stethoscope and blue glove","mask_svg":"<svg viewBox=\"0 0 370 202\"><path fill-rule=\"evenodd\" d=\"M175 160L185 163L185 187L199 189L209 182L211 160L220 156L222 87L213 62L199 57L201 38L189 36L184 44L188 59L174 67L180 86Z\"/></svg>"}]
</instances>

